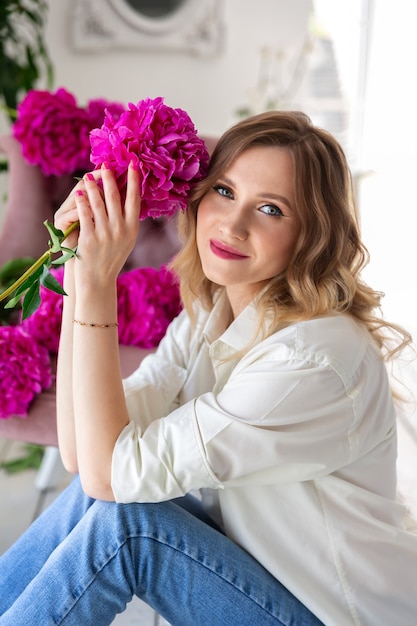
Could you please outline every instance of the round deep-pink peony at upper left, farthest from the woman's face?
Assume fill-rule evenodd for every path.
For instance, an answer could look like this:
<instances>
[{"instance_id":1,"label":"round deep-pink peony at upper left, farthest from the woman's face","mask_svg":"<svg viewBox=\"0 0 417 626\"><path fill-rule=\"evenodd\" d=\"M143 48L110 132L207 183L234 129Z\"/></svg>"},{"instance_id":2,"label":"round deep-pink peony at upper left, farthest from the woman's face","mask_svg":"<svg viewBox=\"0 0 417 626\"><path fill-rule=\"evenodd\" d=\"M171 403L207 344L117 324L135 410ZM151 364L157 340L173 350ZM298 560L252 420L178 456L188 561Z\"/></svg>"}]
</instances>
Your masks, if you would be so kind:
<instances>
[{"instance_id":1,"label":"round deep-pink peony at upper left, farthest from the woman's face","mask_svg":"<svg viewBox=\"0 0 417 626\"><path fill-rule=\"evenodd\" d=\"M65 89L31 90L17 107L13 134L25 159L46 176L90 168L88 113Z\"/></svg>"}]
</instances>

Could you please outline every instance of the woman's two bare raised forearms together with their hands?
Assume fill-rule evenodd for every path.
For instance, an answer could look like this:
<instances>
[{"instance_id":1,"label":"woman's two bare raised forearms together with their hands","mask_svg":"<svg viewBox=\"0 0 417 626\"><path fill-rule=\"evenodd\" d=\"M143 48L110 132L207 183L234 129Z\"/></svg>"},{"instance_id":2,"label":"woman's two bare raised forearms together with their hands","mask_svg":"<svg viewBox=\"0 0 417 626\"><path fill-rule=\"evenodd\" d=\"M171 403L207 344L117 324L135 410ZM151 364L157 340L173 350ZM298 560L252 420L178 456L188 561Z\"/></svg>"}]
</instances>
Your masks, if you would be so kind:
<instances>
[{"instance_id":1,"label":"woman's two bare raised forearms together with their hands","mask_svg":"<svg viewBox=\"0 0 417 626\"><path fill-rule=\"evenodd\" d=\"M129 422L116 325L117 276L137 238L140 198L132 167L124 206L112 172L103 168L94 176L84 177L55 219L61 230L75 221L80 226L77 257L69 262L71 293L60 346L60 439L71 464L76 453L74 465L86 493L113 500L113 449ZM68 241L68 247L73 244Z\"/></svg>"}]
</instances>

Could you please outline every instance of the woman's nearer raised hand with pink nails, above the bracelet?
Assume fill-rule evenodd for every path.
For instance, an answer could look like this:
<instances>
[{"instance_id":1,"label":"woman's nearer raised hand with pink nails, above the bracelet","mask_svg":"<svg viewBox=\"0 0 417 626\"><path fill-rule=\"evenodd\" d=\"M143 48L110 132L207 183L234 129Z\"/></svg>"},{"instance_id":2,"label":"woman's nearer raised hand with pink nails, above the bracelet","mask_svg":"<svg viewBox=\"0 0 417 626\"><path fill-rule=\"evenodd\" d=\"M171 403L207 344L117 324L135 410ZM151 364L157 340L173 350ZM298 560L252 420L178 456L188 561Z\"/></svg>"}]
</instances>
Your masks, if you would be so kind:
<instances>
[{"instance_id":1,"label":"woman's nearer raised hand with pink nails, above the bracelet","mask_svg":"<svg viewBox=\"0 0 417 626\"><path fill-rule=\"evenodd\" d=\"M102 167L100 174L102 188L97 173L89 173L84 176L84 187L76 188L74 194L80 222L76 276L82 276L89 288L114 282L139 232L138 172L129 167L124 202L112 171Z\"/></svg>"}]
</instances>

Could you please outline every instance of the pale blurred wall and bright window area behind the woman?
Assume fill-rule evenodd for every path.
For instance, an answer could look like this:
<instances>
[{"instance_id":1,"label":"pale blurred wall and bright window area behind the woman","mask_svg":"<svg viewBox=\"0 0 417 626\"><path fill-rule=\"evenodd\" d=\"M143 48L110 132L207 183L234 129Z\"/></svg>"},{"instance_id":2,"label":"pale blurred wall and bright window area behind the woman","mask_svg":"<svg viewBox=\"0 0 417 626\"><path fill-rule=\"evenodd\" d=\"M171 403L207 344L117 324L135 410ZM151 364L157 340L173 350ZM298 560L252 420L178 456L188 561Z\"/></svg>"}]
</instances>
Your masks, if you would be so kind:
<instances>
[{"instance_id":1,"label":"pale blurred wall and bright window area behind the woman","mask_svg":"<svg viewBox=\"0 0 417 626\"><path fill-rule=\"evenodd\" d=\"M2 0L4 5L9 0ZM388 317L416 327L417 246L413 0L22 0L45 24L53 77L124 103L164 96L204 135L268 108L301 109L344 146L357 181L366 278ZM16 13L20 44L27 24ZM0 27L2 25L0 24ZM11 46L5 42L4 49ZM3 70L4 71L4 70ZM18 100L25 90L18 93ZM1 97L1 96L0 96ZM10 119L0 114L0 132ZM1 180L0 220L7 189Z\"/></svg>"}]
</instances>

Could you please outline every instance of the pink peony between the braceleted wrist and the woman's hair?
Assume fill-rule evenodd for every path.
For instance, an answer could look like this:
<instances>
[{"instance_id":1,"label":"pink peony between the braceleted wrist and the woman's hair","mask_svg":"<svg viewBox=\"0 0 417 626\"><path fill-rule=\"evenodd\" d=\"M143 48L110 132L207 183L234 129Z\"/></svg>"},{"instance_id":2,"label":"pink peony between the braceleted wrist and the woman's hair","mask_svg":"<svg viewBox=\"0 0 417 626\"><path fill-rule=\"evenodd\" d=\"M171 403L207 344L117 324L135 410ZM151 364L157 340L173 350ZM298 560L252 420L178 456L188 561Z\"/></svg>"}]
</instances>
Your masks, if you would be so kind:
<instances>
[{"instance_id":1,"label":"pink peony between the braceleted wrist and the woman's hair","mask_svg":"<svg viewBox=\"0 0 417 626\"><path fill-rule=\"evenodd\" d=\"M119 342L154 348L181 311L178 283L165 267L140 267L117 283Z\"/></svg>"}]
</instances>

